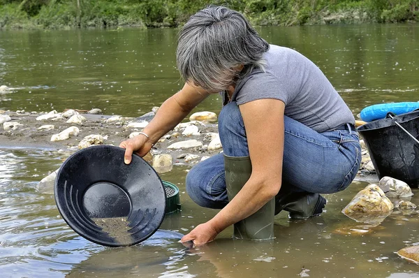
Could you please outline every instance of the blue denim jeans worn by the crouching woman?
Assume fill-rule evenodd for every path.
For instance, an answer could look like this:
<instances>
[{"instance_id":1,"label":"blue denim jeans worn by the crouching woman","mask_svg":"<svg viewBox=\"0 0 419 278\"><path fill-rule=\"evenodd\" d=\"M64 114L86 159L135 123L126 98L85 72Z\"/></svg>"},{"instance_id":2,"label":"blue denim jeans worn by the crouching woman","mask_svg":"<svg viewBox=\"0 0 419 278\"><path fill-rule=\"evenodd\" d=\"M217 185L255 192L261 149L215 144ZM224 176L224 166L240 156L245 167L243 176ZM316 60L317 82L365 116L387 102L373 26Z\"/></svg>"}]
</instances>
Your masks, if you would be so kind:
<instances>
[{"instance_id":1,"label":"blue denim jeans worn by the crouching woman","mask_svg":"<svg viewBox=\"0 0 419 278\"><path fill-rule=\"evenodd\" d=\"M356 131L318 133L284 117L284 158L281 192L335 193L355 178L361 160ZM228 103L219 115L219 135L228 156L249 156L240 109ZM260 142L263 144L263 142ZM186 175L186 191L200 206L223 208L228 203L223 154L198 163Z\"/></svg>"}]
</instances>

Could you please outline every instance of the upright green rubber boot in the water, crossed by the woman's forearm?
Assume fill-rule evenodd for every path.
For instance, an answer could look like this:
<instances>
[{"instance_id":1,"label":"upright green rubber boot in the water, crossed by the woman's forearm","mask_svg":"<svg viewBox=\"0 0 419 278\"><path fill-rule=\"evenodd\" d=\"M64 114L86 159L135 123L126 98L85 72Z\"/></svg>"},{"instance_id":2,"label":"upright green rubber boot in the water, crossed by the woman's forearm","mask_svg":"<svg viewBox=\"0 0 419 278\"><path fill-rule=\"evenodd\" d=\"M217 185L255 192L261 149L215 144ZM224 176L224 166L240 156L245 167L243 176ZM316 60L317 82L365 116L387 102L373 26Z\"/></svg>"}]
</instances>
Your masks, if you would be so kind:
<instances>
[{"instance_id":1,"label":"upright green rubber boot in the water, crossed by the woman's forearm","mask_svg":"<svg viewBox=\"0 0 419 278\"><path fill-rule=\"evenodd\" d=\"M249 156L226 156L226 186L228 200L239 193L251 175ZM234 224L233 237L246 240L271 240L274 238L275 199L272 198L251 216Z\"/></svg>"}]
</instances>

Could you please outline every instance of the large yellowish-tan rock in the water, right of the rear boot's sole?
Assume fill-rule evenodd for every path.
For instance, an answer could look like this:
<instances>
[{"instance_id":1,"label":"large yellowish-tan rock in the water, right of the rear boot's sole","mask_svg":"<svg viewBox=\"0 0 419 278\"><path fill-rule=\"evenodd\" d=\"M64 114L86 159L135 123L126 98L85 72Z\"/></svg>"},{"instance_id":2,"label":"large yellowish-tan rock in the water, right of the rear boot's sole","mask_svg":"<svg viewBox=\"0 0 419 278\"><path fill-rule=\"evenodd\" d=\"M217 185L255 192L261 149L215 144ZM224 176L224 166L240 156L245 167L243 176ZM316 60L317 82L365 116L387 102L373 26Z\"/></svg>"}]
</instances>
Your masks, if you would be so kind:
<instances>
[{"instance_id":1,"label":"large yellowish-tan rock in the water, right of the rear boot's sole","mask_svg":"<svg viewBox=\"0 0 419 278\"><path fill-rule=\"evenodd\" d=\"M362 189L353 197L350 203L344 207L344 214L355 212L371 213L371 212L390 212L394 209L394 205L385 193L376 184L370 184Z\"/></svg>"}]
</instances>

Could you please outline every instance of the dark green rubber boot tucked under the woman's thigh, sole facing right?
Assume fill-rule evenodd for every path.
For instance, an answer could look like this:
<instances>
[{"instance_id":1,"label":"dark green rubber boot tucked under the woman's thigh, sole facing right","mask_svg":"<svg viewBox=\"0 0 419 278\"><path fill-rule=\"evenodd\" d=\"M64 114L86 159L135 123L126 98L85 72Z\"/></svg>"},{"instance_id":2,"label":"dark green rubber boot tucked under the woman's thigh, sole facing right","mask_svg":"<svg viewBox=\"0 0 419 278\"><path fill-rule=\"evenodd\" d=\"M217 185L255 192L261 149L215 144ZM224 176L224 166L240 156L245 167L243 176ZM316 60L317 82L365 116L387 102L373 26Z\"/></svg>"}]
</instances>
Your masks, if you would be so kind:
<instances>
[{"instance_id":1,"label":"dark green rubber boot tucked under the woman's thigh, sole facing right","mask_svg":"<svg viewBox=\"0 0 419 278\"><path fill-rule=\"evenodd\" d=\"M275 196L275 215L281 210L290 212L291 219L307 219L320 215L326 204L326 199L318 193L285 192Z\"/></svg>"}]
</instances>

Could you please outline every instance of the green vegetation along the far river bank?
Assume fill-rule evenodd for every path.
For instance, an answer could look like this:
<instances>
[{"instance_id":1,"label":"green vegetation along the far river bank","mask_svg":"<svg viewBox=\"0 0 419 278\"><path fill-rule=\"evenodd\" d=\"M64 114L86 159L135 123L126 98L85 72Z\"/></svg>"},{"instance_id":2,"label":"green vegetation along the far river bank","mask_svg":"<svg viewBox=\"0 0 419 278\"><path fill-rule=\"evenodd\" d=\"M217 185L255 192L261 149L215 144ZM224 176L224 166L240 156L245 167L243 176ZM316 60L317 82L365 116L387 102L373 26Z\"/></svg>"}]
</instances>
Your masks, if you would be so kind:
<instances>
[{"instance_id":1,"label":"green vegetation along the far river bank","mask_svg":"<svg viewBox=\"0 0 419 278\"><path fill-rule=\"evenodd\" d=\"M0 28L177 27L212 3L253 24L418 21L419 0L0 0Z\"/></svg>"}]
</instances>

